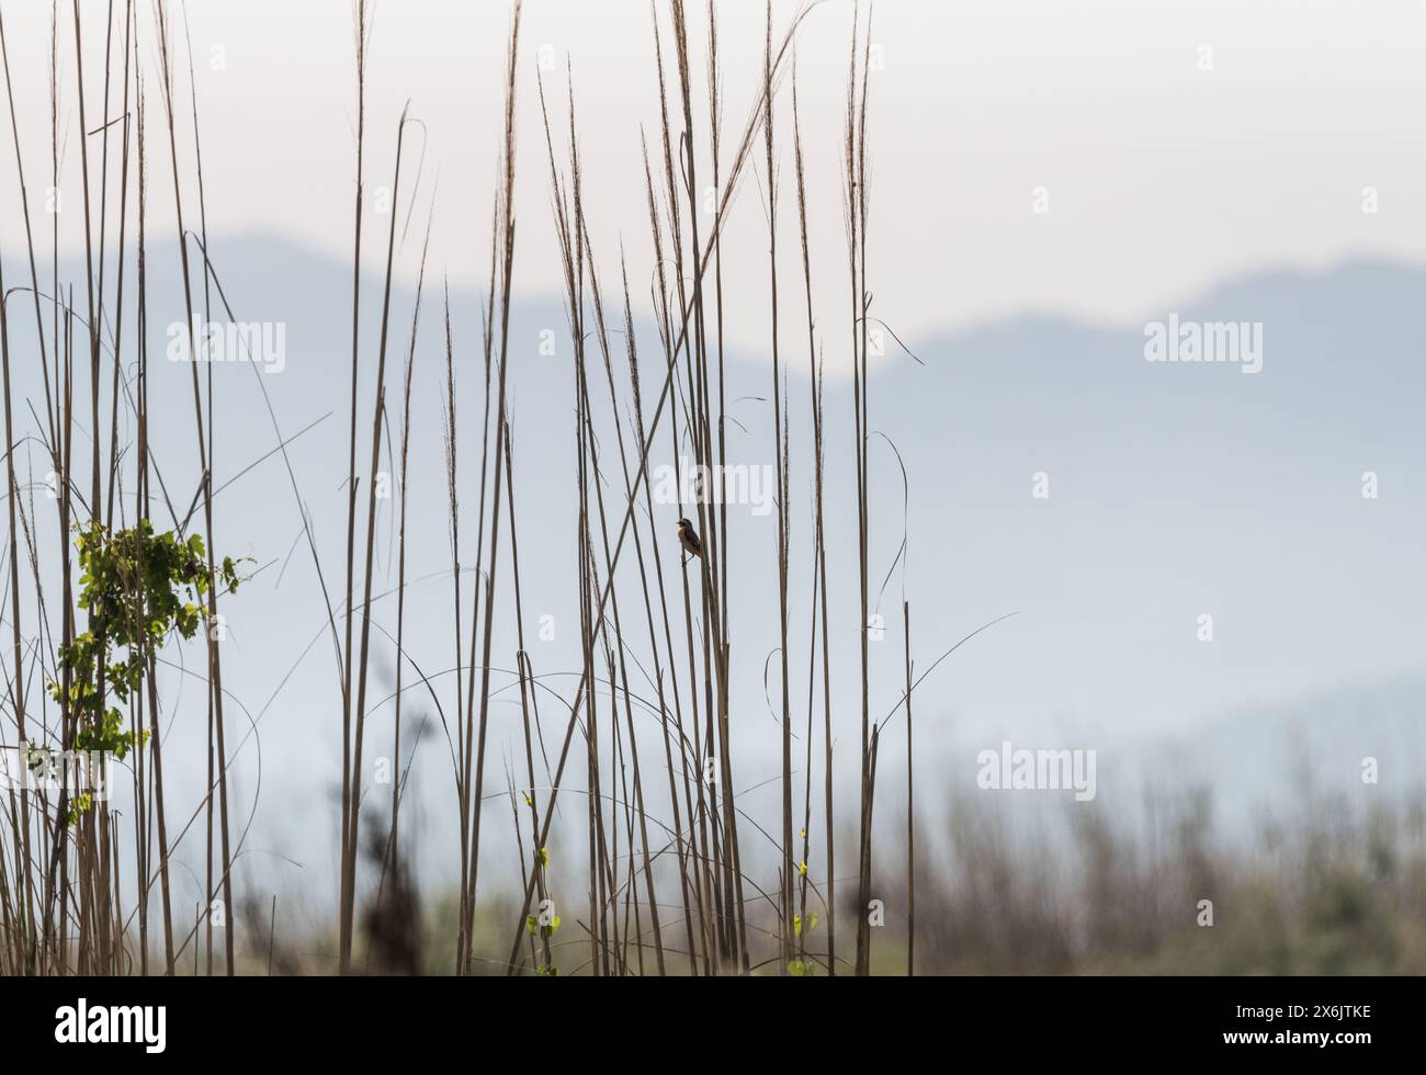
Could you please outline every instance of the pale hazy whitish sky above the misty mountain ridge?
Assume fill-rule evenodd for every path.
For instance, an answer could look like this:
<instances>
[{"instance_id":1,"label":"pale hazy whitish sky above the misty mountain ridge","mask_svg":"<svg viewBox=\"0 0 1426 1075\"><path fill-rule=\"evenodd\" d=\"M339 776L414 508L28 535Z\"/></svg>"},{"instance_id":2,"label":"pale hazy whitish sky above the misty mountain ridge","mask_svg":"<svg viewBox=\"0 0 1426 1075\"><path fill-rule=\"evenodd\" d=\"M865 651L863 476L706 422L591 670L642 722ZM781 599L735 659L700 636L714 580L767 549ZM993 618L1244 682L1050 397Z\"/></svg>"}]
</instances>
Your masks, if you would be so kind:
<instances>
[{"instance_id":1,"label":"pale hazy whitish sky above the misty mountain ridge","mask_svg":"<svg viewBox=\"0 0 1426 1075\"><path fill-rule=\"evenodd\" d=\"M61 97L71 106L71 14L61 9ZM150 6L138 9L147 23ZM479 279L511 4L376 0L375 10L366 182L389 184L396 117L409 97L429 131L412 232L439 174L432 262L453 282ZM702 34L704 4L689 10ZM763 6L747 0L719 10L724 137L733 143L760 77ZM779 0L776 27L794 10ZM21 137L29 167L39 170L48 143L48 4L30 0L4 14ZM799 44L813 252L819 272L838 284L838 124L851 17L850 0L827 0ZM174 19L181 33L177 9ZM190 0L188 20L210 225L217 234L279 232L349 257L349 1ZM101 48L100 29L96 20L87 50ZM1243 271L1359 254L1426 255L1419 197L1426 148L1416 137L1426 90L1420 0L881 0L871 37L880 68L871 289L877 312L903 335L1025 309L1135 322ZM596 254L613 272L622 240L635 279L647 272L639 137L640 124L650 138L657 130L652 50L645 3L526 3L518 287L560 287L535 78L543 60L549 91L562 100L566 56ZM141 58L154 64L147 48ZM94 127L100 87L87 91ZM702 100L703 87L694 93ZM779 106L786 113L787 94ZM66 150L61 187L73 197L73 128ZM790 225L790 147L780 155ZM27 178L31 191L48 185L41 174ZM730 227L757 242L764 180L749 180ZM0 237L14 242L13 164L0 165ZM1375 214L1363 212L1368 187L1376 190ZM1034 211L1037 188L1048 212ZM160 182L155 227L170 205ZM78 220L66 221L70 245L81 235ZM376 230L368 237L374 257L378 237ZM415 274L418 245L408 240L399 271ZM730 282L734 299L743 287L749 298L760 297L764 281L743 272ZM737 304L729 334L746 345L763 339L764 305Z\"/></svg>"}]
</instances>

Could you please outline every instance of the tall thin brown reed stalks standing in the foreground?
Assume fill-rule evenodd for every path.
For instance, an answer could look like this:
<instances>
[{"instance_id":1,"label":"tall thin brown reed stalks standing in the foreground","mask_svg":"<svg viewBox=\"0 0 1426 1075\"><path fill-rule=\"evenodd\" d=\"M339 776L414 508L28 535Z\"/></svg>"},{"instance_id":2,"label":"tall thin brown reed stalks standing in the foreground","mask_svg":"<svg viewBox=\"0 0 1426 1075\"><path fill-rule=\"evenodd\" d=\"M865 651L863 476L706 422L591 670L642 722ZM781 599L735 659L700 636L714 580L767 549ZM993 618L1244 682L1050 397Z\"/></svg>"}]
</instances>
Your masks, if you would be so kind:
<instances>
[{"instance_id":1,"label":"tall thin brown reed stalks standing in the foreground","mask_svg":"<svg viewBox=\"0 0 1426 1075\"><path fill-rule=\"evenodd\" d=\"M204 324L214 314L237 317L222 288L221 265L208 255L193 50L183 40L185 34L177 33L165 0L154 0L147 20L135 7L134 0L110 0L107 10L86 4L81 16L78 0L73 0L71 13L61 13L58 4L54 9L48 100L54 187L61 120L71 97L83 133L86 279L77 289L60 279L58 217L48 237L50 278L40 275L26 192L27 180L33 180L27 173L34 171L33 148L20 143L16 90L9 57L3 57L29 257L26 281L6 289L0 279L9 449L4 617L13 636L13 654L4 662L4 739L73 750L91 743L96 724L103 726L113 710L121 727L110 731L127 757L123 778L133 781L135 804L135 816L124 820L121 831L120 817L104 803L76 808L63 791L58 797L14 790L6 796L0 825L0 972L6 974L232 974L244 948L261 958L264 940L271 967L271 930L267 938L260 931L244 938L237 921L215 928L212 914L215 905L234 907L240 863L241 840L230 817L234 747L225 709L231 710L232 691L224 687L220 599L244 579L244 569L221 556L221 533L214 530L217 412L211 365L202 371L198 362L190 364L193 469L198 473L191 490L178 486L174 476L165 480L164 468L173 472L181 462L160 461L148 441L145 267L154 244L177 241L190 326L198 324L200 312ZM652 7L650 94L657 94L659 123L645 133L642 160L630 163L642 177L647 218L627 232L643 232L637 241L647 244L642 254L655 267L645 297L630 287L625 250L595 248L573 64L555 74L533 70L520 38L522 4L515 0L499 106L503 137L492 147L499 167L479 339L461 339L453 332L449 288L442 288L442 346L439 362L432 361L442 376L449 596L443 609L422 607L421 616L449 617L451 647L428 657L409 650L406 633L412 612L406 478L412 455L419 459L424 451L419 438L412 438L412 385L426 351L419 328L425 250L434 224L426 227L409 325L398 324L392 301L398 227L401 220L409 221L418 198L419 182L411 173L415 168L419 180L412 160L419 120L406 110L394 130L368 124L372 10L369 0L354 4L356 184L345 570L329 566L311 525L304 528L338 683L325 716L339 736L332 751L341 774L334 914L339 972L371 967L378 942L371 930L364 935L362 924L374 921L372 914L362 914L364 900L375 891L382 905L382 894L406 891L409 850L404 841L409 835L402 827L402 797L411 763L391 783L389 796L381 791L382 801L372 794L369 763L374 741L381 737L385 744L386 736L398 766L412 757L409 740L402 743L402 699L421 691L439 710L448 736L458 817L459 893L453 935L442 941L449 945L446 969L461 975L492 969L543 975L870 974L881 731L904 713L910 830L910 716L920 680L911 662L910 605L904 599L904 681L874 683L868 652L880 606L870 510L876 469L870 451L876 324L868 268L871 14L860 6L841 10L850 14L850 50L844 171L834 175L809 165L800 121L796 41L810 9L777 24L769 4L756 103L742 125L727 127L717 6L712 0L697 6L669 0ZM831 9L821 16L844 17ZM74 84L61 87L57 56L70 37ZM4 46L0 16L0 54ZM155 61L143 63L150 53ZM187 101L180 90L185 58ZM94 74L101 77L98 86ZM538 106L543 135L538 145L520 144L522 106L526 111ZM191 124L191 141L180 140L181 124ZM372 137L391 138L395 147L389 181L382 177L394 208L375 235L368 234L374 218L366 143ZM518 237L516 165L530 167L525 164L529 153L548 171L556 251L535 250ZM787 161L791 188L784 191L780 175ZM148 231L147 200L154 181L171 181L177 234L155 237ZM841 184L840 222L811 218L809 185L814 182ZM770 324L763 374L770 378L770 421L754 435L776 473L776 519L760 532L766 540L739 543L729 525L727 498L696 496L682 509L702 543L690 555L674 538L677 509L656 496L652 472L660 461L672 459L677 466L684 455L703 473L726 472L729 431L737 423L727 398L730 346L724 326L730 311L724 277L761 257L734 250L726 232L734 211L750 211L750 200L739 194L754 184L766 214L764 312ZM703 208L709 188L710 212ZM523 207L525 214L539 210ZM846 232L846 264L833 271L814 264L809 235L838 227ZM369 257L364 244L374 238L385 247L379 295L364 289ZM789 279L779 258L787 244L800 254L800 279ZM9 250L0 254L13 257ZM580 659L573 687L563 693L550 686L556 670L538 669L526 646L529 610L522 582L539 565L520 559L520 538L530 523L516 509L522 438L511 396L512 366L522 359L511 338L516 274L525 259L546 257L558 257L562 269L570 341L563 372L575 399L569 415L575 451L568 473L578 496L578 523L563 539L578 565L578 595L570 597L578 597ZM824 332L814 318L814 294L829 288L846 288L848 297L846 322L834 332ZM11 352L10 319L30 312L36 349ZM375 336L364 332L371 324L378 325ZM188 342L197 351L200 342ZM846 415L824 408L829 348L850 359L850 423L843 421ZM33 412L31 433L21 433L16 421L20 401L11 399L11 361L37 362L43 374L44 409ZM472 384L475 389L468 388ZM262 385L264 398L267 392ZM468 408L478 418L463 418ZM292 438L278 426L271 405L267 411L277 445L270 455L279 456L285 492L307 519L288 459ZM478 431L473 445L458 436L458 429L472 425ZM838 438L850 446L853 473L827 465L829 445ZM181 452L171 441L165 438L165 449ZM21 449L27 458L39 455L51 472L53 502L37 499L34 486L17 473ZM376 476L384 472L398 476L394 502L378 493ZM836 482L854 482L854 567L829 563L826 502ZM810 490L806 499L800 490ZM384 596L378 549L384 528L392 523L396 599L378 606ZM113 556L116 549L130 547L123 545L128 540L124 535L140 535L130 559L120 557L118 612L101 607L91 593L90 576L76 560L76 528L100 528L96 547ZM144 539L145 533L153 540ZM193 562L187 573L173 577L171 587L154 590L144 583L145 557L167 549L164 540L191 550ZM850 533L843 540L850 545ZM44 543L48 549L41 553ZM903 570L904 549L903 538L896 557ZM776 563L776 596L750 592L739 582L746 575L743 565L764 557ZM831 585L843 580L850 586L853 579L856 595L837 593ZM183 606L190 609L187 619L161 619L164 595L171 597L185 585L195 595ZM793 599L803 593L807 607L794 607ZM838 788L833 669L841 657L834 653L834 640L847 637L853 610L860 634L858 697L843 691L837 704L860 714L860 736L851 747L860 777L854 788ZM739 650L736 624L773 614L776 653ZM114 616L130 617L137 630L113 634ZM110 679L104 662L76 672L78 666L67 654L77 642L96 637L100 650L106 642L124 640L125 660L137 669L133 690L127 681ZM164 656L165 643L198 647L204 656L200 669L185 673L202 684L208 729L207 793L191 808L174 808L164 796L164 731L173 704L161 690L160 670L171 663ZM389 721L385 713L375 717L372 689L385 656L395 669ZM452 679L436 684L422 672L449 657L456 670ZM83 681L71 681L76 674ZM780 757L776 818L752 817L740 807L746 781L734 771L739 744L767 734L766 724L734 711L739 683L759 674L764 684L776 683L769 691ZM56 684L53 699L33 687L37 681ZM499 733L492 699L511 686L518 690L520 719L509 756L518 763L506 764L505 786L496 788L491 756ZM97 707L87 699L97 699ZM511 813L488 816L502 800ZM549 854L562 808L566 818L570 810L582 816L583 861L578 864L568 854L553 863ZM844 877L837 874L838 808L847 816L854 808L857 818L856 855L843 857L856 865L843 867ZM506 823L520 847L523 885L516 912L502 922L509 931L508 958L492 961L476 952L475 938L489 928L489 908L505 914L509 908L486 894L491 883L482 887L482 867L488 870L492 827ZM904 870L908 893L914 893L915 843L910 837L908 831ZM194 844L201 844L207 864L207 900L185 908L174 900L171 864L180 847L191 850ZM914 897L908 898L914 907ZM908 927L913 918L907 917ZM908 942L907 972L911 969Z\"/></svg>"}]
</instances>

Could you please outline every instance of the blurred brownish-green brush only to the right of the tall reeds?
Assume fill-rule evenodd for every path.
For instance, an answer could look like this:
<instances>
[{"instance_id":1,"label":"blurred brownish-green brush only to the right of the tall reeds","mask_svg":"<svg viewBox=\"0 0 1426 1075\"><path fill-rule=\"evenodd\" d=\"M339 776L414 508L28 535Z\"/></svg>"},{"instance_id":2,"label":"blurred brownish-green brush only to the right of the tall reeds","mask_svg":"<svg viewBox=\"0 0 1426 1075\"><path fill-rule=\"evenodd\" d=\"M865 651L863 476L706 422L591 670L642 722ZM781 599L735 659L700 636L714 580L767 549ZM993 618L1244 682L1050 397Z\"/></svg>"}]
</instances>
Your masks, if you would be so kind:
<instances>
[{"instance_id":1,"label":"blurred brownish-green brush only to the right of the tall reeds","mask_svg":"<svg viewBox=\"0 0 1426 1075\"><path fill-rule=\"evenodd\" d=\"M1215 835L1211 807L1188 794L1144 824L1077 806L1057 840L1012 838L963 804L944 861L918 873L917 971L1426 972L1420 803L1315 801L1233 837ZM897 951L883 945L877 969L904 972L904 921L886 932Z\"/></svg>"}]
</instances>

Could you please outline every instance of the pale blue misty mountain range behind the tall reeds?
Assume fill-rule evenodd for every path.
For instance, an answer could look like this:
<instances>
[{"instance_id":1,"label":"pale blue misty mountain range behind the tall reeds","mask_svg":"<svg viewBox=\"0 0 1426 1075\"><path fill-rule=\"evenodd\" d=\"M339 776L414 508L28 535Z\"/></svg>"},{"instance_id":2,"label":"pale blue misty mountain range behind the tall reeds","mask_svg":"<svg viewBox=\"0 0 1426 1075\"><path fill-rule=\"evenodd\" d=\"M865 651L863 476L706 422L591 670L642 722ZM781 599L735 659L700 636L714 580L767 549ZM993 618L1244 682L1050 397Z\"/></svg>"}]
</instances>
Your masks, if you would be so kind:
<instances>
[{"instance_id":1,"label":"pale blue misty mountain range behind the tall reeds","mask_svg":"<svg viewBox=\"0 0 1426 1075\"><path fill-rule=\"evenodd\" d=\"M260 773L270 787L284 788L281 803L264 800L258 807L254 831L281 830L298 847L297 833L335 824L328 807L338 773L341 710L327 603L341 614L349 268L270 237L217 238L211 247L218 277L207 295L195 278L198 309L207 307L214 321L225 321L225 298L240 322L281 325L281 371L275 364L270 364L272 372L244 361L211 364L202 369L202 384L211 369L215 485L222 489L215 502L217 543L222 553L252 556L258 569L228 603L231 646L224 679L240 700L244 734L254 733L235 786L250 808ZM16 261L14 251L7 252ZM150 436L178 518L197 488L198 466L191 375L185 362L168 361L174 325L184 319L175 262L163 251L151 254L148 348L155 413ZM21 265L7 269L19 278ZM74 275L83 279L83 269ZM610 294L612 285L613 279ZM1301 790L1292 774L1302 771L1303 761L1328 783L1359 786L1360 757L1372 751L1382 756L1382 784L1407 790L1403 766L1389 760L1413 760L1419 770L1422 744L1426 572L1419 536L1426 525L1426 449L1419 401L1426 374L1416 299L1423 287L1426 269L1420 267L1353 262L1320 272L1242 277L1172 309L1144 311L1139 324L1025 315L908 339L915 358L887 344L870 384L877 433L868 442L871 576L876 610L886 624L871 647L873 716L891 716L900 697L903 599L911 606L918 672L983 624L1017 613L967 643L918 687L920 793L974 791L977 751L1004 740L1030 749L1099 751L1102 794L1125 807L1138 801L1144 786L1189 778L1219 787L1232 803L1291 796ZM362 295L359 472L368 469L371 451L381 279L365 275ZM384 461L399 448L414 298L409 287L396 288L391 298L385 365L392 431ZM406 696L406 714L429 721L418 771L439 776L418 780L415 794L434 817L451 796L439 720L453 713L438 713L432 696L443 693L453 703L458 660L443 465L443 302L439 277L428 274L412 391L406 599L406 644L428 684ZM466 623L479 500L482 302L482 295L469 291L449 292ZM623 311L610 308L607 317L617 406L627 415ZM1255 325L1261 369L1245 372L1235 361L1147 361L1148 326L1168 324L1171 317L1178 324ZM11 346L23 354L33 346L33 321L27 324L11 305ZM665 359L649 322L636 317L636 325L647 418ZM794 431L790 600L799 632L790 646L791 693L794 711L804 714L810 384L806 325L793 317L784 332ZM846 348L850 329L819 326L819 336L829 351ZM270 332L265 339L275 336ZM523 626L530 637L546 623L553 629L553 639L532 646L532 660L549 687L542 720L555 751L568 719L556 694L568 706L579 669L573 349L563 304L520 298L509 341ZM542 354L550 341L555 354ZM125 368L131 368L131 338L125 346ZM593 338L588 346L590 362L597 364L590 388L600 415L603 509L617 532L625 475ZM19 391L40 411L43 388L33 372L21 376ZM730 463L771 463L771 391L766 355L727 355ZM851 406L850 384L829 375L833 710L838 758L854 778L860 687ZM305 431L288 445L285 462L274 453L278 429L284 438ZM636 468L630 443L625 452ZM667 466L673 453L665 422L650 465ZM46 468L39 453L29 465L34 480L41 480ZM395 503L379 502L379 593L374 600L378 622L392 632ZM672 503L656 510L655 532L667 542L665 567L674 586L673 523L683 510ZM773 659L774 519L749 505L730 510L733 723L734 740L743 744L739 783L750 788L777 771L769 701L780 694ZM645 555L652 555L647 547ZM633 569L632 559L623 565L620 572ZM508 576L508 565L502 572ZM627 585L636 587L632 579ZM502 576L498 586L506 600L509 579ZM623 612L626 642L645 654L642 609ZM498 788L503 787L502 766L519 754L518 690L511 689L508 674L513 612L501 620L493 663L503 672L496 676L501 693L488 774ZM371 734L384 743L395 666L389 643L378 639L378 646ZM405 680L411 687L411 669ZM652 683L642 686L653 694ZM193 720L184 704L194 707ZM175 714L175 754L194 751L194 764L174 766L171 776L191 787L201 786L200 704L201 693L191 691ZM904 750L900 729L900 721L888 726L890 757ZM887 780L898 777L893 771ZM1417 786L1412 777L1409 787ZM774 796L771 786L750 793L744 808L770 807Z\"/></svg>"}]
</instances>

